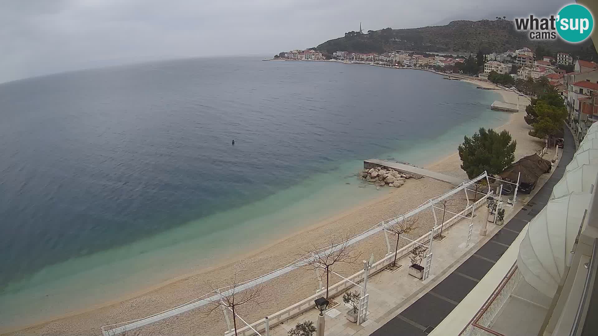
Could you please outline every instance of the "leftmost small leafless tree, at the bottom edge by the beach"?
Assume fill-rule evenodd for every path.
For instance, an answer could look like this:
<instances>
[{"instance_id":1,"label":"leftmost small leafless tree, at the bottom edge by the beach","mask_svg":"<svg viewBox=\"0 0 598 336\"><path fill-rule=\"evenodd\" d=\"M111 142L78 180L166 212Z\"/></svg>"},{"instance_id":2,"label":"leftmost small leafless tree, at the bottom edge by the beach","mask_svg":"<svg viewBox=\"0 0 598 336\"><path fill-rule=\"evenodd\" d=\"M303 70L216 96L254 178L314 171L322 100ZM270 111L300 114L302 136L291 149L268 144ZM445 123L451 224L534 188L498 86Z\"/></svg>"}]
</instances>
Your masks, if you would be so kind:
<instances>
[{"instance_id":1,"label":"leftmost small leafless tree, at the bottom edge by the beach","mask_svg":"<svg viewBox=\"0 0 598 336\"><path fill-rule=\"evenodd\" d=\"M233 326L234 326L234 334L237 335L237 316L236 316L236 309L239 306L243 306L244 304L252 303L252 304L263 304L266 300L260 300L260 296L264 291L264 283L260 283L259 285L252 286L248 289L240 289L239 287L243 285L243 283L237 282L237 273L234 274L233 284L224 288L222 291L231 291L231 293L224 295L221 293L221 290L215 289L211 283L208 282L208 286L212 288L212 292L215 295L218 295L219 300L211 301L212 306L210 307L208 314L211 314L218 308L224 308L225 310L230 310L233 313Z\"/></svg>"}]
</instances>

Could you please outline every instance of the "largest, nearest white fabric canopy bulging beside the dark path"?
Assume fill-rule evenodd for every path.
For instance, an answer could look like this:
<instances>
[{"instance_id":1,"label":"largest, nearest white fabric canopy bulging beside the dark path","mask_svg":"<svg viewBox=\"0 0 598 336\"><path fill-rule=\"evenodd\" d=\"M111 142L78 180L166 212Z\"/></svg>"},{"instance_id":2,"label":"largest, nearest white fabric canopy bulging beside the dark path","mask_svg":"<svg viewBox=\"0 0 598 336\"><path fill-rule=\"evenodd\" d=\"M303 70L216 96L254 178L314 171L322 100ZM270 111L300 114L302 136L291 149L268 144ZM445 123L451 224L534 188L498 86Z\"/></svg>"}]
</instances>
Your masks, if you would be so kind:
<instances>
[{"instance_id":1,"label":"largest, nearest white fabric canopy bulging beside the dark path","mask_svg":"<svg viewBox=\"0 0 598 336\"><path fill-rule=\"evenodd\" d=\"M533 288L553 297L565 271L590 194L571 193L553 198L529 222L521 241L517 267Z\"/></svg>"}]
</instances>

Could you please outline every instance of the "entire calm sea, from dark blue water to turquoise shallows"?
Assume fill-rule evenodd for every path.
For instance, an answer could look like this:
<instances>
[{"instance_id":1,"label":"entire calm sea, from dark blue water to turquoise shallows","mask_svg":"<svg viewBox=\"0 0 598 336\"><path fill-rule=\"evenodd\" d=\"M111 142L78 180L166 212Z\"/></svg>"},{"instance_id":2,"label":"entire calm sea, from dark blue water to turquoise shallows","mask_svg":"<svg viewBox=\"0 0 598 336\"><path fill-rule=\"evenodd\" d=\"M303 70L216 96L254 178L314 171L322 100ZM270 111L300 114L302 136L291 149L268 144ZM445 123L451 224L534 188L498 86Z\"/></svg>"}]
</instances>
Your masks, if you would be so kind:
<instances>
[{"instance_id":1,"label":"entire calm sea, from dark blue water to turquoise shallows","mask_svg":"<svg viewBox=\"0 0 598 336\"><path fill-rule=\"evenodd\" d=\"M504 123L495 99L425 71L254 58L0 84L0 326L155 285L375 197L352 176L361 160L429 163Z\"/></svg>"}]
</instances>

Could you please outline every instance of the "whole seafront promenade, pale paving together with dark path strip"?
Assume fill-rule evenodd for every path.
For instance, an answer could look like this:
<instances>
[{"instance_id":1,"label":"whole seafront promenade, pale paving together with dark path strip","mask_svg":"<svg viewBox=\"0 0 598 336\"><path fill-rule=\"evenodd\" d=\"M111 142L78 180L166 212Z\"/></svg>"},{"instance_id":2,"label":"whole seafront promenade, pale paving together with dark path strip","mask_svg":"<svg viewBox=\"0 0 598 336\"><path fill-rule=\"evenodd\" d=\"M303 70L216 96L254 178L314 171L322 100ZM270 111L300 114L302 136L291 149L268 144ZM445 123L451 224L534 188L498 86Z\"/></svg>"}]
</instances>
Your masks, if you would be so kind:
<instances>
[{"instance_id":1,"label":"whole seafront promenade, pale paving together with dark path strip","mask_svg":"<svg viewBox=\"0 0 598 336\"><path fill-rule=\"evenodd\" d=\"M408 275L408 267L405 266L396 273L381 271L375 274L370 277L367 286L370 294L368 320L361 325L349 322L344 316L348 307L341 304L327 311L325 335L424 336L433 331L507 251L527 222L544 207L574 152L573 137L567 130L565 148L554 172L550 177L541 177L538 185L542 187L539 190L531 195L518 195L518 200L523 203L518 201L515 207L505 207L505 220L508 219L505 225L489 223L487 236L480 236L487 209L477 209L469 246L465 243L468 223L460 221L445 231L446 239L434 243L434 262L427 280L422 282ZM398 262L408 265L408 256ZM361 291L357 287L352 290ZM341 299L337 298L337 301ZM282 325L274 326L270 335L287 336L297 322L315 322L317 318L316 309L306 311Z\"/></svg>"}]
</instances>

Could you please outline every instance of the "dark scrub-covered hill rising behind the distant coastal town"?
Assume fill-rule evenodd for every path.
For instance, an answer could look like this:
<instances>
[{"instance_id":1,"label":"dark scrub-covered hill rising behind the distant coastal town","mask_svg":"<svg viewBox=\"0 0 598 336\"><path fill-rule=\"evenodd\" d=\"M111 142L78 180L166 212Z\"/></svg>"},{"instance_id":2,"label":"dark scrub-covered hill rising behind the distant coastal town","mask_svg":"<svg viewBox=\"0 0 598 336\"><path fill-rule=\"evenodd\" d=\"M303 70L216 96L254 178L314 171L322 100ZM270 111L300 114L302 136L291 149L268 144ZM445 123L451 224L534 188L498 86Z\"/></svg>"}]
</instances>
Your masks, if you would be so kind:
<instances>
[{"instance_id":1,"label":"dark scrub-covered hill rising behind the distant coastal town","mask_svg":"<svg viewBox=\"0 0 598 336\"><path fill-rule=\"evenodd\" d=\"M446 53L515 50L541 45L554 53L566 51L581 54L590 47L590 39L582 44L568 44L560 39L535 42L525 33L517 32L511 20L453 21L446 26L428 26L413 29L369 30L368 33L347 32L344 37L326 41L316 49L328 54L334 51L382 53L389 50L438 51ZM587 57L586 57L587 58Z\"/></svg>"}]
</instances>

